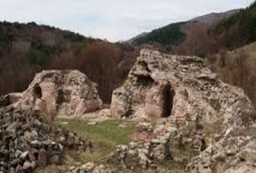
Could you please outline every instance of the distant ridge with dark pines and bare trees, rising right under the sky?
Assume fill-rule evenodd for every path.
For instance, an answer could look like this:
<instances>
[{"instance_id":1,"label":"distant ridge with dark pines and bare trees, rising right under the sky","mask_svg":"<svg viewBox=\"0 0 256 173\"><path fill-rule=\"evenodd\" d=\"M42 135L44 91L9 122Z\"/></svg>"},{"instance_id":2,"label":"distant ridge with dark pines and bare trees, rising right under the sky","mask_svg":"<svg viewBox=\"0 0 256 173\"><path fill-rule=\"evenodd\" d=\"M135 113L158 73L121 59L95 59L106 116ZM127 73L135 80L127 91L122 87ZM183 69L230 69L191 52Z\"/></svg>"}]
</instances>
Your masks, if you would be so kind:
<instances>
[{"instance_id":1,"label":"distant ridge with dark pines and bare trees, rising right under the sky","mask_svg":"<svg viewBox=\"0 0 256 173\"><path fill-rule=\"evenodd\" d=\"M154 29L134 39L134 45L207 57L222 49L237 49L256 41L256 2L242 10L212 13Z\"/></svg>"}]
</instances>

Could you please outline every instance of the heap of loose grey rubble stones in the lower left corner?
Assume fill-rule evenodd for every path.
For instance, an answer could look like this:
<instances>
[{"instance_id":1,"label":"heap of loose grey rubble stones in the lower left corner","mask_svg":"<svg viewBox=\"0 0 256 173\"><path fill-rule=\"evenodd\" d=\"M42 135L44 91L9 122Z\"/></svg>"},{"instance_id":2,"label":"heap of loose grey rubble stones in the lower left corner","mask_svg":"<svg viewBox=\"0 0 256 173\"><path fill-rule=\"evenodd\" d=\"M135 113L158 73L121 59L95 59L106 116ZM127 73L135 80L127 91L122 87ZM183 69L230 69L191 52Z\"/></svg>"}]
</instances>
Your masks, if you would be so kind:
<instances>
[{"instance_id":1,"label":"heap of loose grey rubble stones in the lower left corner","mask_svg":"<svg viewBox=\"0 0 256 173\"><path fill-rule=\"evenodd\" d=\"M65 137L63 137L65 136ZM86 150L73 132L58 128L39 112L0 108L0 171L32 172L61 162L63 147Z\"/></svg>"}]
</instances>

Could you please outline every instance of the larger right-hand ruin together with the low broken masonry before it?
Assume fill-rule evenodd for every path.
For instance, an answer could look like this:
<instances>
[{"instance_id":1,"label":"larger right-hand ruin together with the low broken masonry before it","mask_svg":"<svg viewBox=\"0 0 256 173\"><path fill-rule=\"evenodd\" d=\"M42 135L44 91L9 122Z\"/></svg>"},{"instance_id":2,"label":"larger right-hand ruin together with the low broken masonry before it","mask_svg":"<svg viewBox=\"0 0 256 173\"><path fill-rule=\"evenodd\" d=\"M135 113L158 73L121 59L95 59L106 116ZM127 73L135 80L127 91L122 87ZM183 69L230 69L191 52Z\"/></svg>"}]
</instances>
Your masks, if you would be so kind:
<instances>
[{"instance_id":1,"label":"larger right-hand ruin together with the low broken masonry before it","mask_svg":"<svg viewBox=\"0 0 256 173\"><path fill-rule=\"evenodd\" d=\"M133 142L118 147L110 163L152 168L172 159L172 145L200 153L186 160L186 172L255 171L255 110L241 88L223 83L199 57L142 49L114 90L110 112L138 124ZM158 120L154 129L142 125L150 119Z\"/></svg>"}]
</instances>

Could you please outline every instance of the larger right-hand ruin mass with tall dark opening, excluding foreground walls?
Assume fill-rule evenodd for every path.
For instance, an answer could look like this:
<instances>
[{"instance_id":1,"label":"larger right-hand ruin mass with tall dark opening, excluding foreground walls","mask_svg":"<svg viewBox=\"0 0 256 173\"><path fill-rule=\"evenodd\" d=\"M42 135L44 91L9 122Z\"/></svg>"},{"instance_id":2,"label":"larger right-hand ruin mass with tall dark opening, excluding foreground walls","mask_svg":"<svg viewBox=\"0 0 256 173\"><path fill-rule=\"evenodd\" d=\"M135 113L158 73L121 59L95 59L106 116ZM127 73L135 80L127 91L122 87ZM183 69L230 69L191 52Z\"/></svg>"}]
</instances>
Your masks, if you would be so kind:
<instances>
[{"instance_id":1,"label":"larger right-hand ruin mass with tall dark opening, excluding foreground walls","mask_svg":"<svg viewBox=\"0 0 256 173\"><path fill-rule=\"evenodd\" d=\"M136 121L164 118L177 128L180 143L198 151L227 128L255 120L242 89L223 83L201 58L150 49L142 49L124 85L114 90L110 112Z\"/></svg>"}]
</instances>

